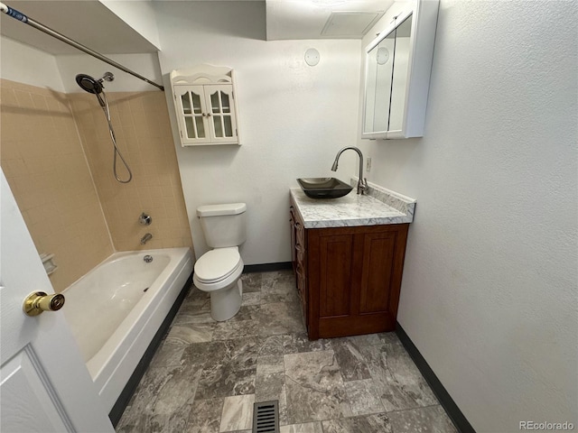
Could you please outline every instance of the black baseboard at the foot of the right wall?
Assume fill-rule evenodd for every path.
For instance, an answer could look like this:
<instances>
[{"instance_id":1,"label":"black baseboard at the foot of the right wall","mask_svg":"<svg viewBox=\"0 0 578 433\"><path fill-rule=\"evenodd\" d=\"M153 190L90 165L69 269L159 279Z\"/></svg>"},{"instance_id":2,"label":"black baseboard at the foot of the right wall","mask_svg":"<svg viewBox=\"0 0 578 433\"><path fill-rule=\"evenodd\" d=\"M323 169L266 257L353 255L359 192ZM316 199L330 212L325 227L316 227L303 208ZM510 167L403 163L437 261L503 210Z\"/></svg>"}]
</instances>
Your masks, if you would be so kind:
<instances>
[{"instance_id":1,"label":"black baseboard at the foot of the right wall","mask_svg":"<svg viewBox=\"0 0 578 433\"><path fill-rule=\"evenodd\" d=\"M430 385L430 388L432 388L437 400L440 401L443 409L452 419L452 422L458 431L461 433L476 433L476 430L471 427L470 421L468 421L463 413L461 413L460 408L455 404L450 393L445 390L442 382L440 382L435 373L433 373L432 368L427 364L424 356L419 353L414 342L409 338L409 336L407 336L406 331L401 327L399 322L396 322L396 335L399 337L399 340L404 347L406 347L407 353L414 360L415 365L424 376L425 381Z\"/></svg>"}]
</instances>

